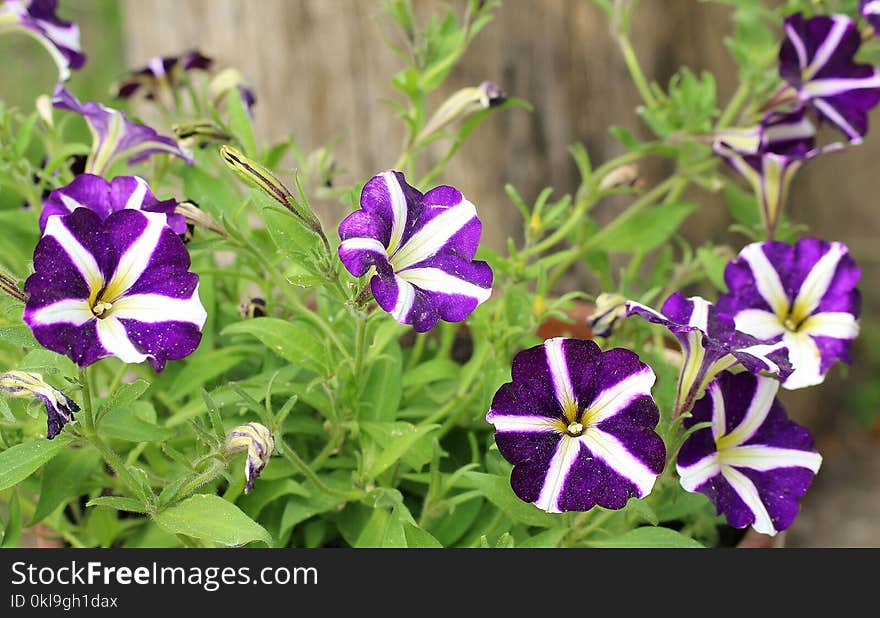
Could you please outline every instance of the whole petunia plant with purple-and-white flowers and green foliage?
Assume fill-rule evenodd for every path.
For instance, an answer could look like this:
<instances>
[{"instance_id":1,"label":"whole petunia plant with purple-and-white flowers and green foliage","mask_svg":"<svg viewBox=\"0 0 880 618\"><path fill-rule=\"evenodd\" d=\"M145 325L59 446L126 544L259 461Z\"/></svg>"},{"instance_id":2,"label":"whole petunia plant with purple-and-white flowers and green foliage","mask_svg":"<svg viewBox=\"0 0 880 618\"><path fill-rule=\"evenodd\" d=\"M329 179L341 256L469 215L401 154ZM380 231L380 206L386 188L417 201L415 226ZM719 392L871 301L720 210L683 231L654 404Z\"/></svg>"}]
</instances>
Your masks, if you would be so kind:
<instances>
[{"instance_id":1,"label":"whole petunia plant with purple-and-white flowers and green foliage","mask_svg":"<svg viewBox=\"0 0 880 618\"><path fill-rule=\"evenodd\" d=\"M0 5L0 35L60 73L33 110L0 105L4 546L701 547L796 525L822 455L788 391L859 357L862 271L787 202L871 139L878 3L737 4L719 108L708 73L644 74L637 3L595 0L650 137L614 128L602 162L575 144L577 187L513 176L506 203L448 163L499 115L558 112L462 81L511 10L463 4L378 3L405 139L369 170L337 165L344 139L264 141L259 92L195 47L74 96L90 43L65 7ZM712 193L728 244L678 233ZM522 220L503 250L493 211Z\"/></svg>"}]
</instances>

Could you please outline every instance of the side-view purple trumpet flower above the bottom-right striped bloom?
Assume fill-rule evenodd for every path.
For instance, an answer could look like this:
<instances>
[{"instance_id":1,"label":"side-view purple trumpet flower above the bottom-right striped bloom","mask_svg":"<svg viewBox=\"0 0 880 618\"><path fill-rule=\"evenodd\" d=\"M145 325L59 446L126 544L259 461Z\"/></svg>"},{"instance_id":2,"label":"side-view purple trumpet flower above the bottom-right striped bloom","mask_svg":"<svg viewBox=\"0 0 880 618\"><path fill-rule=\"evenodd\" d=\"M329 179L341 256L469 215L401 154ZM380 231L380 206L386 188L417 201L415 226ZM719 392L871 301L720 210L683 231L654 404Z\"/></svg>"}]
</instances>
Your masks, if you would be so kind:
<instances>
[{"instance_id":1,"label":"side-view purple trumpet flower above the bottom-right striped bloom","mask_svg":"<svg viewBox=\"0 0 880 618\"><path fill-rule=\"evenodd\" d=\"M730 316L699 296L685 298L676 292L666 299L661 311L627 301L627 315L639 315L665 326L681 345L684 363L679 374L676 417L693 407L718 374L735 365L780 379L791 373L783 343L767 344L737 330Z\"/></svg>"}]
</instances>

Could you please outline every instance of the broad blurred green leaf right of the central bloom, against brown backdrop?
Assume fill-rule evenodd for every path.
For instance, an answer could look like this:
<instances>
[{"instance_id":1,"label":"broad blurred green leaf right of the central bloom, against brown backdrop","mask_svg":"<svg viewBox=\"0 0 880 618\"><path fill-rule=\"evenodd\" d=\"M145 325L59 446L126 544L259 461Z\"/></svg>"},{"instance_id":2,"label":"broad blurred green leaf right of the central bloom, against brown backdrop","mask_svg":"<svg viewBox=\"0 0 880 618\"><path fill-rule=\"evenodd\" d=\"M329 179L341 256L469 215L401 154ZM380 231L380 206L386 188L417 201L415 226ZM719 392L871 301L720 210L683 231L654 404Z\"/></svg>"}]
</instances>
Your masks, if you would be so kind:
<instances>
[{"instance_id":1,"label":"broad blurred green leaf right of the central bloom, against brown backdrop","mask_svg":"<svg viewBox=\"0 0 880 618\"><path fill-rule=\"evenodd\" d=\"M696 207L687 202L661 204L634 216L615 219L600 232L591 249L647 252L665 243Z\"/></svg>"}]
</instances>

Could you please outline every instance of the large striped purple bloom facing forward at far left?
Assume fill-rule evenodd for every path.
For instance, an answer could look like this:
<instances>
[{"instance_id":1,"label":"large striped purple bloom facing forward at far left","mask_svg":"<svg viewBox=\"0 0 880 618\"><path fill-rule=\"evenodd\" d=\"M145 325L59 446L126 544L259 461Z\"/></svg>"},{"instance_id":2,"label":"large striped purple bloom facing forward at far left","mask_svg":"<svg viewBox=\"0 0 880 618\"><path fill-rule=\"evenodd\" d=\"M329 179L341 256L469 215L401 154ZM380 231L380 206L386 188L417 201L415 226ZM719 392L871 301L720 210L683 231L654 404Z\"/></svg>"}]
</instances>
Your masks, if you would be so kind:
<instances>
[{"instance_id":1,"label":"large striped purple bloom facing forward at far left","mask_svg":"<svg viewBox=\"0 0 880 618\"><path fill-rule=\"evenodd\" d=\"M162 213L89 208L49 217L25 282L24 321L81 367L107 356L157 371L191 354L206 313L189 253Z\"/></svg>"}]
</instances>

